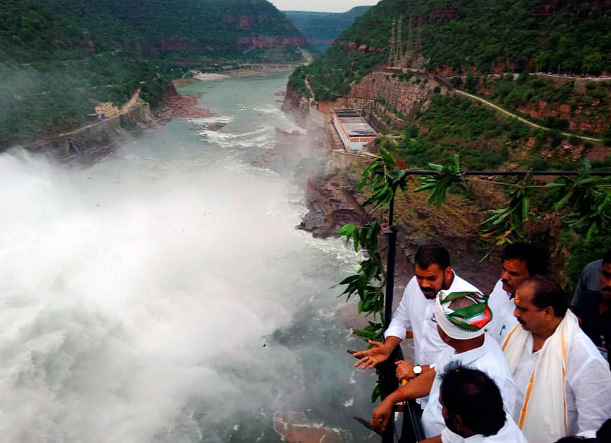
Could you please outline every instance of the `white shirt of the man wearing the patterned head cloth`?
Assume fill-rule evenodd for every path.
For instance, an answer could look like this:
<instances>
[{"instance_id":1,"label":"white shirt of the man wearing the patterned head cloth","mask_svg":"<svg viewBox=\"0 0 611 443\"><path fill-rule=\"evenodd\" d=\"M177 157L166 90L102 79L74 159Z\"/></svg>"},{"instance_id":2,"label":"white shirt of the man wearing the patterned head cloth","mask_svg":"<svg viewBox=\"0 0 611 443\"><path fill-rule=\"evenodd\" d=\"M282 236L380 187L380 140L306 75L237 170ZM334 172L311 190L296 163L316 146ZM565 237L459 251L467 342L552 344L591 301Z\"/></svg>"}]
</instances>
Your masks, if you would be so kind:
<instances>
[{"instance_id":1,"label":"white shirt of the man wearing the patterned head cloth","mask_svg":"<svg viewBox=\"0 0 611 443\"><path fill-rule=\"evenodd\" d=\"M426 407L422 412L422 427L426 438L441 434L441 431L445 428L444 417L441 414L441 403L439 403L439 387L441 387L441 374L444 372L445 366L455 361L461 362L463 366L479 369L488 374L499 387L507 415L510 416L515 410L516 385L511 379L505 355L503 355L499 344L486 334L484 344L479 348L459 354L455 354L453 349L444 351L437 359L435 363L437 375L433 381L433 386L431 386Z\"/></svg>"}]
</instances>

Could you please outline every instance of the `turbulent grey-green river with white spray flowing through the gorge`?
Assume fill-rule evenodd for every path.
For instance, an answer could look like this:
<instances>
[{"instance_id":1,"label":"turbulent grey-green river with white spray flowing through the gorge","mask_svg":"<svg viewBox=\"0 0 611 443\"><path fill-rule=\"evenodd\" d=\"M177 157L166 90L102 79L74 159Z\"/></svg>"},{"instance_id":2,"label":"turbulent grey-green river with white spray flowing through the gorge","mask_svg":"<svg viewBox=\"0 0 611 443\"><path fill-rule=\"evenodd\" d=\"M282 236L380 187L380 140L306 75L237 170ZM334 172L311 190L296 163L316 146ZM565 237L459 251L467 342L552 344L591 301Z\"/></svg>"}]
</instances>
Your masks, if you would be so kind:
<instances>
[{"instance_id":1,"label":"turbulent grey-green river with white spray flowing through the gorge","mask_svg":"<svg viewBox=\"0 0 611 443\"><path fill-rule=\"evenodd\" d=\"M259 161L276 128L304 132L274 95L286 81L184 88L214 117L88 167L0 154L0 441L278 442L290 411L370 436L351 417L373 375L352 370L331 289L356 256L295 229L316 140Z\"/></svg>"}]
</instances>

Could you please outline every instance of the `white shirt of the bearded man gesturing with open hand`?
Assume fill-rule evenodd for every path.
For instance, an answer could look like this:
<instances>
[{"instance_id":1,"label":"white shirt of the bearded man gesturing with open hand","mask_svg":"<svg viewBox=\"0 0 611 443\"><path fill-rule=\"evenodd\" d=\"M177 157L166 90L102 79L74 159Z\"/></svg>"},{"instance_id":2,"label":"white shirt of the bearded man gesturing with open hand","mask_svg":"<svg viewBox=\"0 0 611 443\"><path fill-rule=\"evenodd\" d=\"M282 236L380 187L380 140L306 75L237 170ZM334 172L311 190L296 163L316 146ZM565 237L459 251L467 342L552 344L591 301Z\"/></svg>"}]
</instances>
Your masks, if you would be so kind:
<instances>
[{"instance_id":1,"label":"white shirt of the bearded man gesturing with open hand","mask_svg":"<svg viewBox=\"0 0 611 443\"><path fill-rule=\"evenodd\" d=\"M477 287L464 281L454 274L454 280L447 292L478 291ZM403 291L403 298L397 310L392 314L392 320L384 337L405 338L408 329L414 333L414 362L416 364L431 364L437 360L439 354L444 350L453 349L442 342L437 333L437 322L433 310L435 300L428 300L422 294L415 276L409 281Z\"/></svg>"}]
</instances>

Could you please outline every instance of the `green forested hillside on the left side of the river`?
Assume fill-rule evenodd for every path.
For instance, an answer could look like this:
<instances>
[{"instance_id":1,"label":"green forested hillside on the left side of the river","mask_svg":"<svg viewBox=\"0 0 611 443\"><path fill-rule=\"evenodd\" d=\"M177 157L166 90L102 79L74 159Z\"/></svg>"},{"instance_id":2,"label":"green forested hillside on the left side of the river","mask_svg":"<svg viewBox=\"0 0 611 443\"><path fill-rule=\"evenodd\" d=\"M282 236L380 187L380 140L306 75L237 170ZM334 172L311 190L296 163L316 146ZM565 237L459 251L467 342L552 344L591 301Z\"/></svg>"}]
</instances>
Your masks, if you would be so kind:
<instances>
[{"instance_id":1,"label":"green forested hillside on the left side of the river","mask_svg":"<svg viewBox=\"0 0 611 443\"><path fill-rule=\"evenodd\" d=\"M74 128L97 102L123 104L137 88L155 106L169 79L183 74L172 57L301 57L291 46L265 48L266 38L303 40L265 0L5 0L0 146Z\"/></svg>"}]
</instances>

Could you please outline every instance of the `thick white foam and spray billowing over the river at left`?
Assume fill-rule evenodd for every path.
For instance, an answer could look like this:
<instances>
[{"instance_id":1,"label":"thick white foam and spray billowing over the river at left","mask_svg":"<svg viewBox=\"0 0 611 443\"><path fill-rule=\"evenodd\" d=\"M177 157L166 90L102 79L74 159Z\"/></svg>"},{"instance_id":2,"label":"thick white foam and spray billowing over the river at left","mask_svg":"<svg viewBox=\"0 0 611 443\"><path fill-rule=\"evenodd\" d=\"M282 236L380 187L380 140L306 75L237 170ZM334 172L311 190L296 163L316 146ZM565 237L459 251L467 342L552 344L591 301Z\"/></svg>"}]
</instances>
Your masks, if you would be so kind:
<instances>
[{"instance_id":1,"label":"thick white foam and spray billowing over the river at left","mask_svg":"<svg viewBox=\"0 0 611 443\"><path fill-rule=\"evenodd\" d=\"M281 398L295 356L261 343L296 309L277 273L303 247L269 215L283 181L168 162L0 155L0 441L197 441Z\"/></svg>"}]
</instances>

